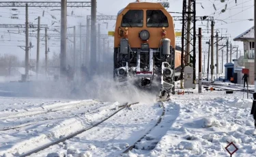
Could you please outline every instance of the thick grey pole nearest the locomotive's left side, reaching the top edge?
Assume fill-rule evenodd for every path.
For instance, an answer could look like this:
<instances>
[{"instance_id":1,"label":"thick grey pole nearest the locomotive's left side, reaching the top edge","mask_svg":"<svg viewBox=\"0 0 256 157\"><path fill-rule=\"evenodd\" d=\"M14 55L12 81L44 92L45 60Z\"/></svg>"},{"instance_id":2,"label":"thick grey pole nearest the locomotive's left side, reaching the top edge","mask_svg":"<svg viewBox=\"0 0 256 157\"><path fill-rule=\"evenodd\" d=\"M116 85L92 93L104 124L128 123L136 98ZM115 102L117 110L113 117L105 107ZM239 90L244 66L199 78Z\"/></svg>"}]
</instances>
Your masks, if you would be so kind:
<instances>
[{"instance_id":1,"label":"thick grey pole nearest the locomotive's left side, reaching the top edge","mask_svg":"<svg viewBox=\"0 0 256 157\"><path fill-rule=\"evenodd\" d=\"M97 8L97 1L91 0L91 65L90 69L91 75L94 75L96 72L97 66L97 37L96 37L96 8Z\"/></svg>"}]
</instances>

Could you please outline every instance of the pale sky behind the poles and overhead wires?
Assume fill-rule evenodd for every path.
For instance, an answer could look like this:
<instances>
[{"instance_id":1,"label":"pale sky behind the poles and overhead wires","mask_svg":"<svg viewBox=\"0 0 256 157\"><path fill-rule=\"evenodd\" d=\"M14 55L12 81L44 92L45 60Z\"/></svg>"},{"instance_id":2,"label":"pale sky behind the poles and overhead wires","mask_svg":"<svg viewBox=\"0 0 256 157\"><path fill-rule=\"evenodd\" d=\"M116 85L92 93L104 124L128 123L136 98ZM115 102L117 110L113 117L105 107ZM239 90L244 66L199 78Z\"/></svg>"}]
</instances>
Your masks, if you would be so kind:
<instances>
[{"instance_id":1,"label":"pale sky behind the poles and overhead wires","mask_svg":"<svg viewBox=\"0 0 256 157\"><path fill-rule=\"evenodd\" d=\"M9 0L10 1L10 0ZM20 1L20 0L18 0ZM38 0L33 0L38 1ZM49 0L46 0L49 1ZM72 1L81 1L81 0L72 0ZM135 0L98 0L97 1L97 14L104 15L116 15L119 10L125 8L128 3L133 2ZM159 0L148 0L148 2L156 2ZM169 0L170 8L167 10L169 12L182 12L182 0ZM227 4L226 12L221 14L221 10L225 9L225 5ZM253 18L253 0L225 0L224 3L221 3L221 0L197 0L197 16L214 16L216 19L216 25L214 29L218 29L220 33L228 35L229 41L233 40L236 36L240 35L247 29L253 27L253 21L249 21L249 18ZM214 10L214 6L216 10ZM0 23L1 24L25 24L25 8L15 8L17 11L13 11L14 8L1 8L0 10ZM41 25L49 25L50 30L48 33L57 33L51 31L55 28L59 28L60 23L60 11L56 10L59 8L29 8L29 23L33 23L33 25L37 25L38 16L41 16ZM44 11L44 16L42 16ZM14 16L18 16L18 19L12 19L10 16L12 14L17 14ZM90 14L90 8L68 8L68 27L73 27L74 25L86 25L86 16ZM172 16L182 16L182 14L171 14ZM56 18L56 19L55 19ZM224 20L226 23L224 23ZM106 22L108 22L108 26L106 26ZM115 21L100 21L102 23L101 29L102 33L107 33L107 31L113 31L115 29ZM202 29L207 29L207 22L201 23L201 21L197 22L198 27L202 27ZM210 28L210 23L209 23ZM182 25L180 21L175 21L175 29L182 29ZM12 31L12 33L8 33L8 30ZM25 29L23 29L25 30ZM25 46L25 33L20 29L20 33L17 34L18 29L3 29L0 28L0 54L13 54L17 55L20 60L25 59L25 51L18 46ZM33 29L35 30L35 29ZM79 33L79 29L76 31ZM85 31L83 29L82 31ZM31 33L31 32L30 32ZM32 32L32 33L36 33ZM41 31L44 33L44 30ZM68 29L68 33L73 33L73 29ZM220 35L219 33L219 35ZM205 36L210 36L210 33L203 34ZM40 45L40 59L44 59L44 39L41 37L42 42ZM32 45L30 57L31 59L36 58L36 38L29 38ZM72 38L68 40L68 50L72 49L72 42L70 42ZM109 38L109 40L113 40L113 38ZM77 39L79 43L79 39ZM51 57L53 53L59 54L59 38L50 38L50 52L48 55ZM113 44L113 42L111 42ZM233 42L233 45L239 45L239 50L243 50L242 42ZM111 45L113 46L113 45ZM207 45L203 43L203 53L206 53ZM79 46L78 46L79 49Z\"/></svg>"}]
</instances>

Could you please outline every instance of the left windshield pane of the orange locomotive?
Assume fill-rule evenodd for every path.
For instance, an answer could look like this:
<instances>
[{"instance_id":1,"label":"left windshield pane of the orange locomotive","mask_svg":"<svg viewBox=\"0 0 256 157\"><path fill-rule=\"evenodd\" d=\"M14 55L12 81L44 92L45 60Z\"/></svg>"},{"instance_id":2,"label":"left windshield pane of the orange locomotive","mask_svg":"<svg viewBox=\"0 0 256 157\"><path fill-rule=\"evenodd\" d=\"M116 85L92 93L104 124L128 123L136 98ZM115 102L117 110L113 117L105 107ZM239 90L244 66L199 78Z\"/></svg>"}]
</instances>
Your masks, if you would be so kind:
<instances>
[{"instance_id":1,"label":"left windshield pane of the orange locomotive","mask_svg":"<svg viewBox=\"0 0 256 157\"><path fill-rule=\"evenodd\" d=\"M143 10L129 10L124 14L122 27L143 27Z\"/></svg>"}]
</instances>

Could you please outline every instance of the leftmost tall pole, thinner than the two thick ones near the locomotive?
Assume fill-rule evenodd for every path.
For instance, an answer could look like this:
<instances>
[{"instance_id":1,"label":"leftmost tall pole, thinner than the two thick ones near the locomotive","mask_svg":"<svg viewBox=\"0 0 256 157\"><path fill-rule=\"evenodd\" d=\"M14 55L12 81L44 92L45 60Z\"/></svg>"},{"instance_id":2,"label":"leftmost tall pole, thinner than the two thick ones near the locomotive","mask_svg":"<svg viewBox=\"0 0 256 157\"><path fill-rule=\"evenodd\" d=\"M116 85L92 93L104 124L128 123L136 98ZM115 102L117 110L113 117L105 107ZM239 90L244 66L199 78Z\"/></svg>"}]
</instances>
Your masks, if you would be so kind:
<instances>
[{"instance_id":1,"label":"leftmost tall pole, thinner than the two thick ones near the locomotive","mask_svg":"<svg viewBox=\"0 0 256 157\"><path fill-rule=\"evenodd\" d=\"M26 3L25 81L29 77L29 9Z\"/></svg>"}]
</instances>

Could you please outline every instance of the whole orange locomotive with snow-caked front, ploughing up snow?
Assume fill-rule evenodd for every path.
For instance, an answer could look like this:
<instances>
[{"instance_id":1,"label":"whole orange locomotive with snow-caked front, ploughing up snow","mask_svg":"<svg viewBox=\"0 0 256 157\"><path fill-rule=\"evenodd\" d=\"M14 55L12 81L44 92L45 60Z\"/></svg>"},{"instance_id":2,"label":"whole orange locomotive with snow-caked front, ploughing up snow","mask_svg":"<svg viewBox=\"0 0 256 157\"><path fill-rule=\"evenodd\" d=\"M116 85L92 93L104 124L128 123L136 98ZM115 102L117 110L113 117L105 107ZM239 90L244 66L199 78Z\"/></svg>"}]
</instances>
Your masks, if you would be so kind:
<instances>
[{"instance_id":1,"label":"whole orange locomotive with snow-caked front, ploughing up snow","mask_svg":"<svg viewBox=\"0 0 256 157\"><path fill-rule=\"evenodd\" d=\"M115 81L134 78L140 87L156 85L160 97L174 93L181 53L175 52L173 18L160 3L129 3L117 15L114 36Z\"/></svg>"}]
</instances>

